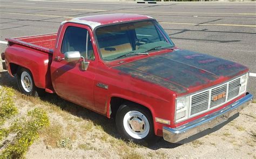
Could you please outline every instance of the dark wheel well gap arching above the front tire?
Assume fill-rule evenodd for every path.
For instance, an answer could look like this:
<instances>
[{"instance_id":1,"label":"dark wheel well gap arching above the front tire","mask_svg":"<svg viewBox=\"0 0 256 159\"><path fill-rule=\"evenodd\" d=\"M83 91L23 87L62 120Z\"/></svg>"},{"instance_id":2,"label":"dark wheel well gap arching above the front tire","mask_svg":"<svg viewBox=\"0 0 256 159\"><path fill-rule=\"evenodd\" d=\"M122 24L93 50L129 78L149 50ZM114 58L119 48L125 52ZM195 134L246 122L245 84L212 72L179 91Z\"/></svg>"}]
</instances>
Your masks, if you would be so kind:
<instances>
[{"instance_id":1,"label":"dark wheel well gap arching above the front tire","mask_svg":"<svg viewBox=\"0 0 256 159\"><path fill-rule=\"evenodd\" d=\"M116 117L117 110L119 109L119 107L123 103L133 103L133 104L136 104L136 105L140 105L140 106L144 107L146 110L148 110L150 112L151 116L152 116L152 113L151 113L150 109L147 108L144 105L141 105L141 104L132 102L131 100L127 100L127 99L120 98L120 97L111 97L111 100L110 100L110 110L111 110L110 117L112 117L112 118Z\"/></svg>"}]
</instances>

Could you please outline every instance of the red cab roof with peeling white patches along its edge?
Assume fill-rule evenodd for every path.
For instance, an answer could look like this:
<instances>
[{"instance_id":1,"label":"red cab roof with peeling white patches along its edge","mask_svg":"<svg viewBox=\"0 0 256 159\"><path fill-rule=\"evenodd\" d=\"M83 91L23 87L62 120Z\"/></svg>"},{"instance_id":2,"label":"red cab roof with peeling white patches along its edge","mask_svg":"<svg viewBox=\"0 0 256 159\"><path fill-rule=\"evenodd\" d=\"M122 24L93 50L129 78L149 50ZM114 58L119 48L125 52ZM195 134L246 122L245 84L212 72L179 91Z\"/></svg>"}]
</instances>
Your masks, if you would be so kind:
<instances>
[{"instance_id":1,"label":"red cab roof with peeling white patches along its edge","mask_svg":"<svg viewBox=\"0 0 256 159\"><path fill-rule=\"evenodd\" d=\"M115 14L108 14L108 15L96 15L96 16L66 19L65 21L62 22L62 24L64 23L85 24L85 25L89 25L92 28L92 30L94 30L95 27L100 25L120 23L123 21L143 20L143 19L153 19L153 18L149 16L143 16L143 15L115 13Z\"/></svg>"}]
</instances>

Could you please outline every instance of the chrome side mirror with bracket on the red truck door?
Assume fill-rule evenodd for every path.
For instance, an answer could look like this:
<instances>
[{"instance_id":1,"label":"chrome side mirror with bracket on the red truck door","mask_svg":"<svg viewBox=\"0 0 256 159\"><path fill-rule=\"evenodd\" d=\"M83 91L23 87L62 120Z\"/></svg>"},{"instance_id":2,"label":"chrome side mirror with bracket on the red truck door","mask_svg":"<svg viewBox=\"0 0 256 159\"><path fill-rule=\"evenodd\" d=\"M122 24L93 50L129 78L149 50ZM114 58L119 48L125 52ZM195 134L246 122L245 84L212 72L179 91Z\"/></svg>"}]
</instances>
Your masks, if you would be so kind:
<instances>
[{"instance_id":1,"label":"chrome side mirror with bracket on the red truck door","mask_svg":"<svg viewBox=\"0 0 256 159\"><path fill-rule=\"evenodd\" d=\"M74 52L66 52L65 53L65 61L66 62L75 62L79 61L81 58L83 58L83 61L81 62L81 67L83 71L86 71L89 66L89 61L85 61L84 57L80 55L80 52L74 51Z\"/></svg>"}]
</instances>

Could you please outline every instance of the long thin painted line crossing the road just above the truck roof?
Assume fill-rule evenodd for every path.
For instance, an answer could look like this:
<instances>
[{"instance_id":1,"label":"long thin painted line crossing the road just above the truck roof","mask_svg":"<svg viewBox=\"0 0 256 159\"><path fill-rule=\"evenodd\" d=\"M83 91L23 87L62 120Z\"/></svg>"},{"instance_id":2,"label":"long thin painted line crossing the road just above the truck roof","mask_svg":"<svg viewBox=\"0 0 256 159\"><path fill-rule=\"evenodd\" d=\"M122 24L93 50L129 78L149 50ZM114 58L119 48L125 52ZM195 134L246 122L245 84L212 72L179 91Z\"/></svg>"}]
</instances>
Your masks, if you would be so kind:
<instances>
[{"instance_id":1,"label":"long thin painted line crossing the road just above the truck roof","mask_svg":"<svg viewBox=\"0 0 256 159\"><path fill-rule=\"evenodd\" d=\"M41 6L17 6L17 5L1 5L15 8L37 8L37 9L59 9L59 10L74 10L74 11L99 11L99 12L137 12L137 13L184 13L184 14L212 14L212 15L256 15L256 13L210 13L210 12L160 12L160 11L131 11L131 10L91 10L91 9L72 9L72 8L49 8Z\"/></svg>"}]
</instances>

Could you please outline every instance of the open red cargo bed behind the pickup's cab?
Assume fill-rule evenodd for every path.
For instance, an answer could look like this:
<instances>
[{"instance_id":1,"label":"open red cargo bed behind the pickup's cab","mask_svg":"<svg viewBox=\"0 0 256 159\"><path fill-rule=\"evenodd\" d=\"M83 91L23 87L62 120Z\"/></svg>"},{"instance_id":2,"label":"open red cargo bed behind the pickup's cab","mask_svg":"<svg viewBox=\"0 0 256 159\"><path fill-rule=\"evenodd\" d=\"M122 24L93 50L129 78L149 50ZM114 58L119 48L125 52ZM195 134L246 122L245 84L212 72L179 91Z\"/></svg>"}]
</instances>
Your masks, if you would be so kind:
<instances>
[{"instance_id":1,"label":"open red cargo bed behind the pickup's cab","mask_svg":"<svg viewBox=\"0 0 256 159\"><path fill-rule=\"evenodd\" d=\"M52 54L56 38L57 33L52 33L32 35L29 37L6 38L5 40L9 42L9 45L18 44Z\"/></svg>"}]
</instances>

